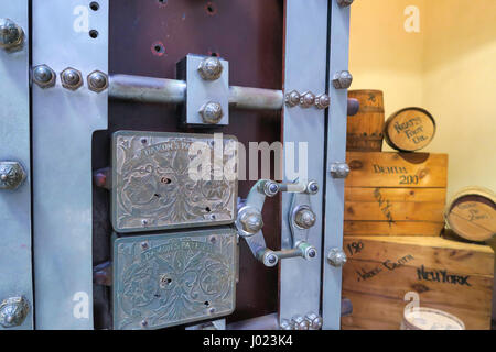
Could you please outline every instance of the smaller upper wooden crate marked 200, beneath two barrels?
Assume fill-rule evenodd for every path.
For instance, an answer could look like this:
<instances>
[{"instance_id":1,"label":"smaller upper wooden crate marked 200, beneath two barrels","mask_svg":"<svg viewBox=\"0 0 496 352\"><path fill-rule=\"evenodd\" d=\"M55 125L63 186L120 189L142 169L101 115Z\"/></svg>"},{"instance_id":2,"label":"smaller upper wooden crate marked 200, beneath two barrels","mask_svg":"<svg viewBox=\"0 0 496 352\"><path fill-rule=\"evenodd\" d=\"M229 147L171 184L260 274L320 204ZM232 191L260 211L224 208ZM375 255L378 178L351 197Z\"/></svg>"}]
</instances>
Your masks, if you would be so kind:
<instances>
[{"instance_id":1,"label":"smaller upper wooden crate marked 200, beneath two barrels","mask_svg":"<svg viewBox=\"0 0 496 352\"><path fill-rule=\"evenodd\" d=\"M345 235L441 233L448 155L348 152Z\"/></svg>"}]
</instances>

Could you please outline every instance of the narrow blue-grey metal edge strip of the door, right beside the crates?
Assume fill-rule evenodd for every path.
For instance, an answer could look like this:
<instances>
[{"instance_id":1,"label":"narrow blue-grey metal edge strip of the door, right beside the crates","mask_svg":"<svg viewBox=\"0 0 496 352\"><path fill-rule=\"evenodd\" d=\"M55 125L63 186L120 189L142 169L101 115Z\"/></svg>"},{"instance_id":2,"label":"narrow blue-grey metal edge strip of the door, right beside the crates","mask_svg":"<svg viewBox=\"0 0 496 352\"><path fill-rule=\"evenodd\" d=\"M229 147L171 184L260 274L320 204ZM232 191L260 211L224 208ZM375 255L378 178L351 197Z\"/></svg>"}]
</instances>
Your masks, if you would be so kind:
<instances>
[{"instance_id":1,"label":"narrow blue-grey metal edge strip of the door, right beside the crates","mask_svg":"<svg viewBox=\"0 0 496 352\"><path fill-rule=\"evenodd\" d=\"M341 7L337 0L330 1L330 57L328 87L331 107L327 119L327 157L325 173L325 229L323 252L323 329L341 328L342 268L327 263L333 248L343 248L344 179L331 175L331 164L346 161L347 90L333 87L336 72L348 69L349 7Z\"/></svg>"}]
</instances>

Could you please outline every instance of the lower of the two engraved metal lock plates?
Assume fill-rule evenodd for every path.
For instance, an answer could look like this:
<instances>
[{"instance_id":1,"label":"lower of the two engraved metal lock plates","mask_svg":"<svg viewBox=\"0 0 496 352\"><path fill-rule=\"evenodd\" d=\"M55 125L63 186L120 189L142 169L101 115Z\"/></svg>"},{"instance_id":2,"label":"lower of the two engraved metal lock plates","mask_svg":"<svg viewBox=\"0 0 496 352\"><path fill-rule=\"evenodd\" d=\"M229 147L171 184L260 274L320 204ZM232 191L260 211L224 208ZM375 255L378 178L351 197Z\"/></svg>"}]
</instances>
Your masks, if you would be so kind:
<instances>
[{"instance_id":1,"label":"lower of the two engraved metal lock plates","mask_svg":"<svg viewBox=\"0 0 496 352\"><path fill-rule=\"evenodd\" d=\"M160 329L235 309L230 228L114 240L114 329Z\"/></svg>"}]
</instances>

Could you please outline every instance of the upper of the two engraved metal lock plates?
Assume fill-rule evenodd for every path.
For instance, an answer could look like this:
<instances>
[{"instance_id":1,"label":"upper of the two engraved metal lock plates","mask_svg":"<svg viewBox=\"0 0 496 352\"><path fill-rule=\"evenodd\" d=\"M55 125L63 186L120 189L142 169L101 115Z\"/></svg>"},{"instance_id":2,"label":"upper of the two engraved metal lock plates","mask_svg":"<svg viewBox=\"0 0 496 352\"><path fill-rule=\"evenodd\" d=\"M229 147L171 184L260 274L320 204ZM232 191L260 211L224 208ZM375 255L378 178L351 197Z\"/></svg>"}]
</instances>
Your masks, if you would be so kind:
<instances>
[{"instance_id":1,"label":"upper of the two engraved metal lock plates","mask_svg":"<svg viewBox=\"0 0 496 352\"><path fill-rule=\"evenodd\" d=\"M114 229L123 233L233 223L236 147L236 138L226 135L214 141L213 134L114 133Z\"/></svg>"}]
</instances>

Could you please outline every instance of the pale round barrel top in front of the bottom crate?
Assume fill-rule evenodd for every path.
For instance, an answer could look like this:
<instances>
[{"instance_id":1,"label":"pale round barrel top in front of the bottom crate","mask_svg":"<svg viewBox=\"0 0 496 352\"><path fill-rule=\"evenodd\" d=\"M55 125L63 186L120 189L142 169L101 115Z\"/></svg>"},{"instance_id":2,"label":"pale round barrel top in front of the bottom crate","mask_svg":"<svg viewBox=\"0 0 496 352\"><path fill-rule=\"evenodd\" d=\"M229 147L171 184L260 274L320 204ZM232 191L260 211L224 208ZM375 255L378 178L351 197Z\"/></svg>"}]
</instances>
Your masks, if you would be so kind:
<instances>
[{"instance_id":1,"label":"pale round barrel top in front of the bottom crate","mask_svg":"<svg viewBox=\"0 0 496 352\"><path fill-rule=\"evenodd\" d=\"M420 307L405 310L401 330L465 330L465 324L445 311Z\"/></svg>"}]
</instances>

